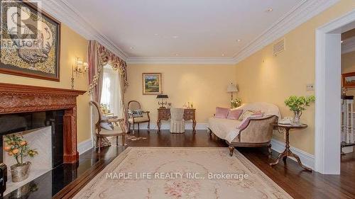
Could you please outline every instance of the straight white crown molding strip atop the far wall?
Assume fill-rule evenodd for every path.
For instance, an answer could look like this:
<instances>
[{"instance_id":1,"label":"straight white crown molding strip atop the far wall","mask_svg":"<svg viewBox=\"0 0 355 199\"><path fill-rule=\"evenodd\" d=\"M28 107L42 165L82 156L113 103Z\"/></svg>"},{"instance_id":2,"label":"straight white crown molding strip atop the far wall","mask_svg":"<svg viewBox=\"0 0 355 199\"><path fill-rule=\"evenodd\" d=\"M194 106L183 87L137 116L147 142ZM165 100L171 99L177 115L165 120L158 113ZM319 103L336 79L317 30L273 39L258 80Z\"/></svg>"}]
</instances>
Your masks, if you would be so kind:
<instances>
[{"instance_id":1,"label":"straight white crown molding strip atop the far wall","mask_svg":"<svg viewBox=\"0 0 355 199\"><path fill-rule=\"evenodd\" d=\"M129 57L127 64L235 64L233 58Z\"/></svg>"}]
</instances>

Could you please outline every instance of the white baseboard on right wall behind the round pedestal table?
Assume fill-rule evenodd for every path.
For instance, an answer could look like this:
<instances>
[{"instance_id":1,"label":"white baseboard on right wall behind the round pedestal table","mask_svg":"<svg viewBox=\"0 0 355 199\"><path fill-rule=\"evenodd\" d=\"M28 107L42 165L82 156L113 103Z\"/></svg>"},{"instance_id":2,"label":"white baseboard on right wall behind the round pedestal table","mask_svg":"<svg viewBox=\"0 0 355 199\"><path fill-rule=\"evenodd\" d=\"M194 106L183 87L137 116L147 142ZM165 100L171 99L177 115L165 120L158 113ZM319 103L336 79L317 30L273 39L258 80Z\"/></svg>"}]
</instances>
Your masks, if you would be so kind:
<instances>
[{"instance_id":1,"label":"white baseboard on right wall behind the round pedestal table","mask_svg":"<svg viewBox=\"0 0 355 199\"><path fill-rule=\"evenodd\" d=\"M285 142L280 142L278 140L272 139L271 140L271 145L272 149L275 150L276 152L283 152L285 150ZM312 169L315 169L315 156L312 154L309 154L307 152L303 152L300 149L297 149L295 147L290 147L291 151L296 154L298 157L300 157L302 164L305 166L308 166ZM295 158L293 157L288 157L289 159L292 159L293 161L296 161Z\"/></svg>"}]
</instances>

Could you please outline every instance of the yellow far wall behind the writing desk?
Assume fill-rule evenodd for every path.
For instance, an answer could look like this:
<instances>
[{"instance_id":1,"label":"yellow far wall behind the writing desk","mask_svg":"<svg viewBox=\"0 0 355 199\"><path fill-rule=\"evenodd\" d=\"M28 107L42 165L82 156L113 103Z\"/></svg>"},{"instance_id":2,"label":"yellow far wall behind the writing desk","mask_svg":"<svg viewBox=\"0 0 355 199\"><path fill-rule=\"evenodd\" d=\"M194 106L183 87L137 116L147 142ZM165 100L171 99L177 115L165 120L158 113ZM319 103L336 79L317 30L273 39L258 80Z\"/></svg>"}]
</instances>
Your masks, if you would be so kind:
<instances>
[{"instance_id":1,"label":"yellow far wall behind the writing desk","mask_svg":"<svg viewBox=\"0 0 355 199\"><path fill-rule=\"evenodd\" d=\"M197 123L207 123L216 106L228 108L230 94L226 87L235 82L234 65L136 65L129 64L129 88L126 91L126 105L131 100L141 102L143 110L151 111L151 122L156 123L158 100L156 96L142 94L142 73L162 73L163 93L168 94L173 107L182 107L187 101L197 109Z\"/></svg>"}]
</instances>

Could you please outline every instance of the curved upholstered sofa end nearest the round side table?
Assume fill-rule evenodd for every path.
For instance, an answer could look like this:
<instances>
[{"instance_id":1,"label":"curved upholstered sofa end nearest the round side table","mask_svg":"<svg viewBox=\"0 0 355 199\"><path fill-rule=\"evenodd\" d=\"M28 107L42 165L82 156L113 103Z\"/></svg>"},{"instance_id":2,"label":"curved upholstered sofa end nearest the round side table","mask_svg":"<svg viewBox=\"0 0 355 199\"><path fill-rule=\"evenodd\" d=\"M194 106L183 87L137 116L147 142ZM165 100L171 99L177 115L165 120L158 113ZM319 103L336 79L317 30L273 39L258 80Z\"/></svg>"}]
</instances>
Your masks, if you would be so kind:
<instances>
[{"instance_id":1,"label":"curved upholstered sofa end nearest the round side table","mask_svg":"<svg viewBox=\"0 0 355 199\"><path fill-rule=\"evenodd\" d=\"M270 123L276 123L278 116L270 115L266 118L251 118L248 125L239 132L239 142L265 143L270 142L273 136L273 126Z\"/></svg>"}]
</instances>

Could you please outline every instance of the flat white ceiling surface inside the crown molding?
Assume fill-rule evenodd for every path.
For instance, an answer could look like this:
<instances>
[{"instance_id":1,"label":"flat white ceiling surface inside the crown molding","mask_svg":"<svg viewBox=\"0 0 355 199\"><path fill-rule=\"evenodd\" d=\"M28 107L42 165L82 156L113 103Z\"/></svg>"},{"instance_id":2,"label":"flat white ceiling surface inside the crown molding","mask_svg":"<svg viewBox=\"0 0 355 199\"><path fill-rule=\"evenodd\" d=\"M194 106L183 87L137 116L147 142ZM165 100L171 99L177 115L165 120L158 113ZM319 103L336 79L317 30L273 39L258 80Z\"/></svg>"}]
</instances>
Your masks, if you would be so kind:
<instances>
[{"instance_id":1,"label":"flat white ceiling surface inside the crown molding","mask_svg":"<svg viewBox=\"0 0 355 199\"><path fill-rule=\"evenodd\" d=\"M304 0L67 0L127 57L234 57ZM268 11L272 8L273 11ZM240 40L240 41L238 41Z\"/></svg>"}]
</instances>

